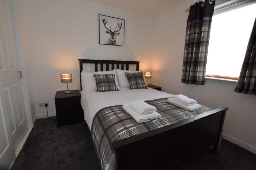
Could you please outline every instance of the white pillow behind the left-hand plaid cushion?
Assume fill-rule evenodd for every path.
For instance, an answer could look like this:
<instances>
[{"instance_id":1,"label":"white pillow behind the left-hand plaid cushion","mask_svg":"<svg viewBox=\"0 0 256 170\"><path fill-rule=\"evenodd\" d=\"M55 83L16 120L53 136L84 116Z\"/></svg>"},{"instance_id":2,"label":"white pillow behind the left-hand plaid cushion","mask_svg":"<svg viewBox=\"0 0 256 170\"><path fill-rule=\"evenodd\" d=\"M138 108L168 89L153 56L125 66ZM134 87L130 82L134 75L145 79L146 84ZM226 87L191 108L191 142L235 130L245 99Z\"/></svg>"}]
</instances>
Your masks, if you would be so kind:
<instances>
[{"instance_id":1,"label":"white pillow behind the left-hand plaid cushion","mask_svg":"<svg viewBox=\"0 0 256 170\"><path fill-rule=\"evenodd\" d=\"M82 89L85 91L89 91L89 90L96 90L97 86L96 86L96 81L95 78L93 77L93 74L99 74L99 75L103 75L103 74L115 74L115 82L116 82L116 86L118 89L120 89L118 81L117 81L117 74L116 71L99 71L99 72L87 72L87 71L82 71L81 72L81 79L82 79Z\"/></svg>"}]
</instances>

